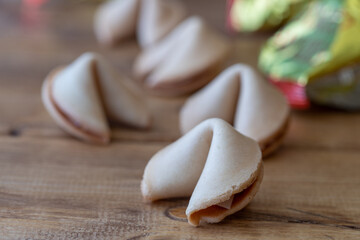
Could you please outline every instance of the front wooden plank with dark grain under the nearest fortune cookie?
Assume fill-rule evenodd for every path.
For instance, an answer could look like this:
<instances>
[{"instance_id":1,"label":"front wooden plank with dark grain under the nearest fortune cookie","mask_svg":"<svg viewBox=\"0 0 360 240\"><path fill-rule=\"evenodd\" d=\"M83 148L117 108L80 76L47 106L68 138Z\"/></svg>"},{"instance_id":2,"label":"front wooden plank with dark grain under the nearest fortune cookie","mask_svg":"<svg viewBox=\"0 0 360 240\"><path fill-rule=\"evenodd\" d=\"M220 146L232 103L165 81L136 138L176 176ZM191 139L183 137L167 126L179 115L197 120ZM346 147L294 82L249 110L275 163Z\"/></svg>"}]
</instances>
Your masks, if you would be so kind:
<instances>
[{"instance_id":1,"label":"front wooden plank with dark grain under the nearest fortune cookie","mask_svg":"<svg viewBox=\"0 0 360 240\"><path fill-rule=\"evenodd\" d=\"M264 182L250 206L221 224L194 228L181 212L187 199L142 201L143 168L164 145L2 138L3 239L360 236L359 151L285 148L265 161Z\"/></svg>"}]
</instances>

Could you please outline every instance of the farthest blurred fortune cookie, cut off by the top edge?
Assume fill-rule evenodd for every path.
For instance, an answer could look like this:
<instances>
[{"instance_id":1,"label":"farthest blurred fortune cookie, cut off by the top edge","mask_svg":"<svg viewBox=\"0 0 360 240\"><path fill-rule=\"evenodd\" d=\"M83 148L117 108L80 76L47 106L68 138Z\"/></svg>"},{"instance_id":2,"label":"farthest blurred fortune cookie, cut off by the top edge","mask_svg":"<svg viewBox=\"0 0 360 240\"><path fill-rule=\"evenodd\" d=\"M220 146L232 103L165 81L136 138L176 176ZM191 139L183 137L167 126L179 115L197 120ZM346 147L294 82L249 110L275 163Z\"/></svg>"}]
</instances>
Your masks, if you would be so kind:
<instances>
[{"instance_id":1,"label":"farthest blurred fortune cookie, cut off by the top edge","mask_svg":"<svg viewBox=\"0 0 360 240\"><path fill-rule=\"evenodd\" d=\"M113 46L136 35L140 46L148 47L185 17L185 7L177 0L110 0L98 8L94 30L103 45Z\"/></svg>"}]
</instances>

